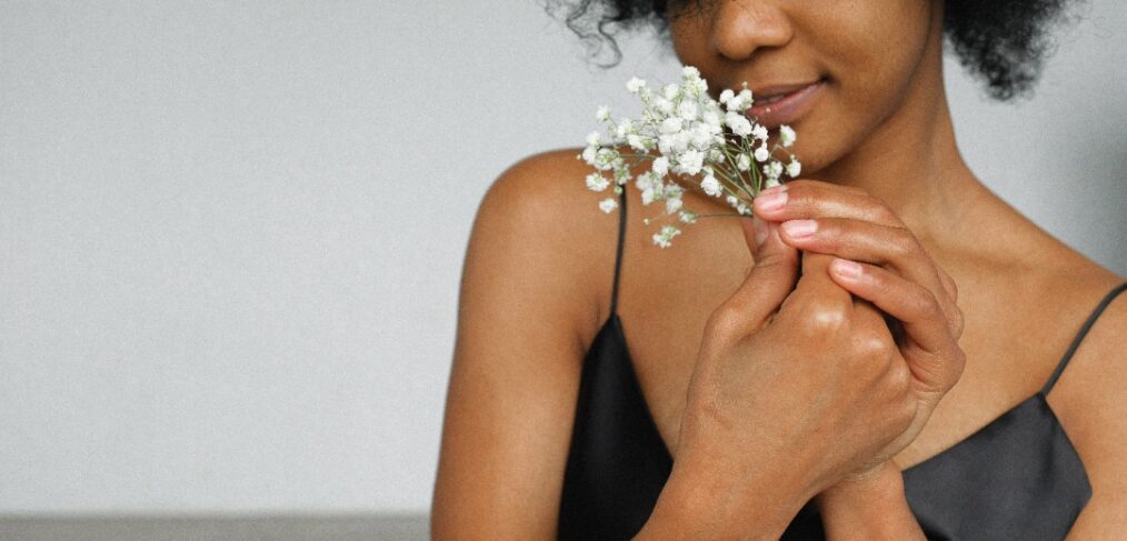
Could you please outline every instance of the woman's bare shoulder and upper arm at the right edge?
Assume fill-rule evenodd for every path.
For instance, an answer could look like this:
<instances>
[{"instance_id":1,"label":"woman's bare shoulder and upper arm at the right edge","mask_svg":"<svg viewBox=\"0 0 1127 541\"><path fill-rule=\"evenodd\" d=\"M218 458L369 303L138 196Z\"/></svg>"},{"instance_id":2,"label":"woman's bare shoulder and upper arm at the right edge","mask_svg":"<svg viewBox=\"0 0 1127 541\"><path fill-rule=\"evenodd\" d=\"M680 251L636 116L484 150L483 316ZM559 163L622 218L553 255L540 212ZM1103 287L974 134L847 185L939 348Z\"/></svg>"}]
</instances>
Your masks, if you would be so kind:
<instances>
[{"instance_id":1,"label":"woman's bare shoulder and upper arm at the right edge","mask_svg":"<svg viewBox=\"0 0 1127 541\"><path fill-rule=\"evenodd\" d=\"M1086 318L1100 305L1053 392L1050 406L1076 447L1092 499L1068 539L1112 539L1127 530L1127 278L1091 260L1075 270L1089 299ZM1077 329L1079 330L1079 329Z\"/></svg>"}]
</instances>

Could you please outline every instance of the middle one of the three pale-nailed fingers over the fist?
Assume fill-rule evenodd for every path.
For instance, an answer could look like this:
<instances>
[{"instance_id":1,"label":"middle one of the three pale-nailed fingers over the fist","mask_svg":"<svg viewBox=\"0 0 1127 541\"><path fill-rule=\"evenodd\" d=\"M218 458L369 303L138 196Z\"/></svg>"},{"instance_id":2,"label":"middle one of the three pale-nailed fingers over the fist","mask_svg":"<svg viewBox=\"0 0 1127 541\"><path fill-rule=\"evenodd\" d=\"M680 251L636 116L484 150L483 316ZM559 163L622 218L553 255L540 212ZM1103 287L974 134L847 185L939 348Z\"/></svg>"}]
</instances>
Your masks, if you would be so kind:
<instances>
[{"instance_id":1,"label":"middle one of the three pale-nailed fingers over the fist","mask_svg":"<svg viewBox=\"0 0 1127 541\"><path fill-rule=\"evenodd\" d=\"M801 250L884 266L926 287L939 301L951 334L961 334L961 312L948 294L939 267L906 228L850 218L818 218L782 222L780 232L787 243Z\"/></svg>"}]
</instances>

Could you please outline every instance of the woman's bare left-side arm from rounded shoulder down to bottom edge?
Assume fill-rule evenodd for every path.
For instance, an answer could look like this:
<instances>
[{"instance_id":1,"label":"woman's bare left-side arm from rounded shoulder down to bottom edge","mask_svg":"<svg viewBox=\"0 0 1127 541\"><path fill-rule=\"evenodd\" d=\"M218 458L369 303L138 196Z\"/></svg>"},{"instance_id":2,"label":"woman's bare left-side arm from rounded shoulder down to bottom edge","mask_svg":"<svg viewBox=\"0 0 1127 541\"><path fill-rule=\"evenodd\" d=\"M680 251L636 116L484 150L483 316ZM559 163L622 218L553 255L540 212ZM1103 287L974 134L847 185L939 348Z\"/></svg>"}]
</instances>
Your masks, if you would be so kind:
<instances>
[{"instance_id":1,"label":"woman's bare left-side arm from rounded shoulder down to bottom edge","mask_svg":"<svg viewBox=\"0 0 1127 541\"><path fill-rule=\"evenodd\" d=\"M434 488L436 540L556 536L579 372L609 303L600 295L610 295L618 220L597 211L601 194L583 189L574 156L517 163L478 210Z\"/></svg>"}]
</instances>

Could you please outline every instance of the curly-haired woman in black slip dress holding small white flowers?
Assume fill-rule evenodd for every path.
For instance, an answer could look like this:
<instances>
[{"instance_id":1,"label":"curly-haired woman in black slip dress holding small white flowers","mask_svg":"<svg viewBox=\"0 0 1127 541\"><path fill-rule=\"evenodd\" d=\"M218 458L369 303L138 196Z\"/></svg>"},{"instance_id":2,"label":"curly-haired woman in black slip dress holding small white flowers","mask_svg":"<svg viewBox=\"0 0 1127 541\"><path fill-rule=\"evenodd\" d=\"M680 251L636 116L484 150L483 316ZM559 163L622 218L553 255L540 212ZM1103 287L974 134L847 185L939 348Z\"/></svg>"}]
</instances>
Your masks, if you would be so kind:
<instances>
[{"instance_id":1,"label":"curly-haired woman in black slip dress holding small white flowers","mask_svg":"<svg viewBox=\"0 0 1127 541\"><path fill-rule=\"evenodd\" d=\"M467 254L433 535L1127 531L1127 284L975 178L942 85L947 32L993 94L1027 88L1057 2L614 3L668 23L711 92L773 101L804 178L660 250L632 188L583 212L605 195L575 150L506 171Z\"/></svg>"}]
</instances>

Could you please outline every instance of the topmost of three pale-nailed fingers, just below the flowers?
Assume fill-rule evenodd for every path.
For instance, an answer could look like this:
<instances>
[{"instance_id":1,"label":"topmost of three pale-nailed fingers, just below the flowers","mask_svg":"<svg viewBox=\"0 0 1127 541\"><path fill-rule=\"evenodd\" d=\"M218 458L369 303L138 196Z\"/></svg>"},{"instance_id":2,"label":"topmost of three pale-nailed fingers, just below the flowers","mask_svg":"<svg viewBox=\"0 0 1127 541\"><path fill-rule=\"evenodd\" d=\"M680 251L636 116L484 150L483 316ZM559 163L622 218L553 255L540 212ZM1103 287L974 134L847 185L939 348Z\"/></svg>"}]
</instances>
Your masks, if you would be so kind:
<instances>
[{"instance_id":1,"label":"topmost of three pale-nailed fingers, just below the flowers","mask_svg":"<svg viewBox=\"0 0 1127 541\"><path fill-rule=\"evenodd\" d=\"M790 180L764 189L752 203L756 214L782 222L804 218L837 216L903 227L888 205L861 188L822 180Z\"/></svg>"}]
</instances>

